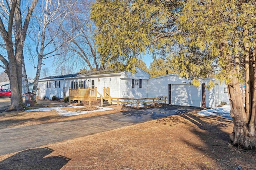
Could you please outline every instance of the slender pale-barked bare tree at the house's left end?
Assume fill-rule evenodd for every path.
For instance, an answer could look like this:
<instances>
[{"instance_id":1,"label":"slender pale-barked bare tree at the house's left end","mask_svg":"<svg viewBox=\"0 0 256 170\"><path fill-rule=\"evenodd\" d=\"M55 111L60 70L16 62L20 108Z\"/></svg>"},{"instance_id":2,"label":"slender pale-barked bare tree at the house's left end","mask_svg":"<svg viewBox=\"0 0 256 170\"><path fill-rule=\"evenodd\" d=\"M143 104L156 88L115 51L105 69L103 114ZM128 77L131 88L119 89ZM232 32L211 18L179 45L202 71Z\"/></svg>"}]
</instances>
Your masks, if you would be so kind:
<instances>
[{"instance_id":1,"label":"slender pale-barked bare tree at the house's left end","mask_svg":"<svg viewBox=\"0 0 256 170\"><path fill-rule=\"evenodd\" d=\"M29 45L28 50L33 60L36 60L36 76L34 78L33 93L36 93L38 80L43 60L49 57L59 55L57 50L70 41L70 37L57 41L56 37L59 34L60 27L69 13L69 6L72 6L72 1L62 0L44 0L40 1L35 14L34 25L31 25L30 39L36 44L36 49L31 49ZM36 51L36 54L34 54ZM36 56L36 57L33 57ZM45 76L45 75L44 75Z\"/></svg>"}]
</instances>

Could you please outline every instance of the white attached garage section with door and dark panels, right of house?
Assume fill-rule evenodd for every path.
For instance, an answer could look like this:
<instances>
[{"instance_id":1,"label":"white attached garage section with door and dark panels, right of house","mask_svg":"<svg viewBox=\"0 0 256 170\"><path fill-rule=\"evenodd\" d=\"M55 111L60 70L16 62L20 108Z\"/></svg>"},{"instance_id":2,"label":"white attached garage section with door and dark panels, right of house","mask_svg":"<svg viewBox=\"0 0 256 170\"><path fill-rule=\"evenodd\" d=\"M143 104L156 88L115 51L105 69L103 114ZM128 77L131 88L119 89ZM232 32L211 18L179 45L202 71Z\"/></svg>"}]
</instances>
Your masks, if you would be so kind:
<instances>
[{"instance_id":1,"label":"white attached garage section with door and dark panels, right of house","mask_svg":"<svg viewBox=\"0 0 256 170\"><path fill-rule=\"evenodd\" d=\"M148 97L167 96L167 103L179 106L216 107L227 102L228 93L225 84L214 80L215 88L207 89L210 79L202 80L200 86L191 85L191 80L180 78L178 74L166 74L148 80Z\"/></svg>"}]
</instances>

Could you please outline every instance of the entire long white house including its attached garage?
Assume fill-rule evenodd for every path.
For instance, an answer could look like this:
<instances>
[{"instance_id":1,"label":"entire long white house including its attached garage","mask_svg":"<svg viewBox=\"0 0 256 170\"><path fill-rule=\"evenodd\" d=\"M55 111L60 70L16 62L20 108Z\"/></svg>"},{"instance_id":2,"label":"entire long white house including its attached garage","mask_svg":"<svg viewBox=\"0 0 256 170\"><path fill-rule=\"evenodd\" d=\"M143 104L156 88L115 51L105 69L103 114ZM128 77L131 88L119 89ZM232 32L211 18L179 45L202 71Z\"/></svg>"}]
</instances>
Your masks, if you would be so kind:
<instances>
[{"instance_id":1,"label":"entire long white house including its attached garage","mask_svg":"<svg viewBox=\"0 0 256 170\"><path fill-rule=\"evenodd\" d=\"M113 98L153 98L167 96L167 103L181 106L215 107L220 102L229 103L225 84L216 81L215 88L205 88L210 80L201 81L200 87L190 85L191 80L180 78L178 74L166 74L149 78L150 74L136 67L136 73L113 70L49 76L39 80L40 98L69 96L69 88L96 88L103 95L104 87L110 88ZM98 94L99 97L99 94Z\"/></svg>"}]
</instances>

